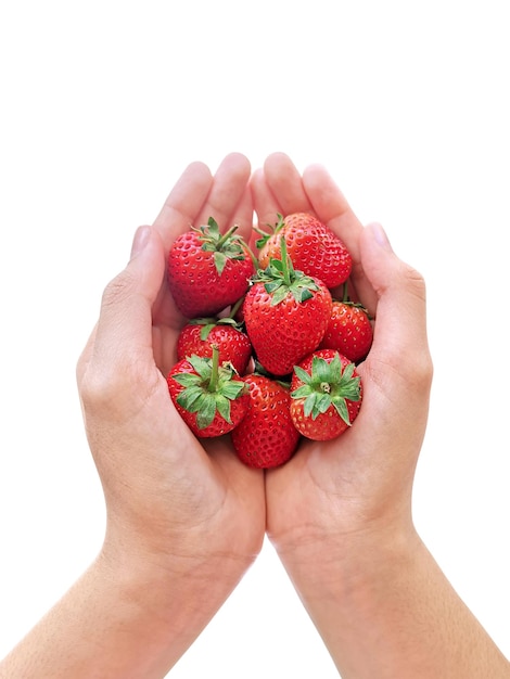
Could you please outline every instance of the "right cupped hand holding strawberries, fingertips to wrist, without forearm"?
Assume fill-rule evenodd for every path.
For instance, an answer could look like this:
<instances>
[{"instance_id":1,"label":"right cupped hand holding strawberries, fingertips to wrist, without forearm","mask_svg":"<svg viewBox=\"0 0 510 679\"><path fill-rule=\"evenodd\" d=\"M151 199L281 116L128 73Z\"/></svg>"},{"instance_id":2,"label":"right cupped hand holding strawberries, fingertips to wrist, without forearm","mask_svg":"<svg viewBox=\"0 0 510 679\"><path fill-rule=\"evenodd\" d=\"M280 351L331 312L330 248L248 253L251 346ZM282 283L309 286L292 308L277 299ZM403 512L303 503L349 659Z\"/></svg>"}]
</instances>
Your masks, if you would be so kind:
<instances>
[{"instance_id":1,"label":"right cupped hand holding strawberries, fingertips to wrist, without forearm","mask_svg":"<svg viewBox=\"0 0 510 679\"><path fill-rule=\"evenodd\" d=\"M268 536L280 554L308 550L320 559L353 536L412 529L432 377L423 280L397 258L381 227L361 226L323 167L302 176L286 155L272 154L254 174L252 194L262 228L277 213L313 212L344 241L354 260L350 295L375 319L373 346L358 367L364 400L352 428L327 443L303 439L266 475Z\"/></svg>"}]
</instances>

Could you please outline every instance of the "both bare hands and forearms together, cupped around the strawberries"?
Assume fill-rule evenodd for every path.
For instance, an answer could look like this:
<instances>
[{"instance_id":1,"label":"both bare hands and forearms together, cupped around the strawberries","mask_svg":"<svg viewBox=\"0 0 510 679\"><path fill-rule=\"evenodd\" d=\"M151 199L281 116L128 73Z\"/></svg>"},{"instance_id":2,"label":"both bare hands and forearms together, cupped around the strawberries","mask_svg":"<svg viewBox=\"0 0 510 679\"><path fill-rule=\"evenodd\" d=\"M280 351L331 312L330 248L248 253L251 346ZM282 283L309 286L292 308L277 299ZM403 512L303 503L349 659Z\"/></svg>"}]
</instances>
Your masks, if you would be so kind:
<instances>
[{"instance_id":1,"label":"both bare hands and forearms together, cupped around the strawberries","mask_svg":"<svg viewBox=\"0 0 510 679\"><path fill-rule=\"evenodd\" d=\"M228 437L197 440L165 380L186 322L165 282L170 243L211 215L251 238L253 207L260 226L315 212L345 241L350 294L375 318L355 425L333 441L302 441L267 472L243 465ZM104 542L0 663L1 679L164 677L266 530L343 679L510 677L412 521L432 381L423 279L381 227L359 223L324 168L301 175L281 153L253 176L240 154L214 176L190 165L106 286L77 379L106 502Z\"/></svg>"}]
</instances>

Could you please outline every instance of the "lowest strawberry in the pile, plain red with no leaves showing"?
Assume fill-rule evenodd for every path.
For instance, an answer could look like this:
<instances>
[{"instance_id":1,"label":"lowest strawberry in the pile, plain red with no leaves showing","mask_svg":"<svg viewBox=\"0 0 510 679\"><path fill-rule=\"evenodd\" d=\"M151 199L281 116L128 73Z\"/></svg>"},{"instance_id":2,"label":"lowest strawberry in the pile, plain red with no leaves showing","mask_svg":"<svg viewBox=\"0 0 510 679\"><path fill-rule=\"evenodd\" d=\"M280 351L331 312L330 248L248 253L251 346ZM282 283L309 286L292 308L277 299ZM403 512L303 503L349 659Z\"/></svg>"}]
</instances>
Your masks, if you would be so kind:
<instances>
[{"instance_id":1,"label":"lowest strawberry in the pile, plain red with no leaves showing","mask_svg":"<svg viewBox=\"0 0 510 679\"><path fill-rule=\"evenodd\" d=\"M291 419L289 388L265 375L244 377L250 387L246 415L231 432L233 447L248 466L269 469L286 462L299 441Z\"/></svg>"}]
</instances>

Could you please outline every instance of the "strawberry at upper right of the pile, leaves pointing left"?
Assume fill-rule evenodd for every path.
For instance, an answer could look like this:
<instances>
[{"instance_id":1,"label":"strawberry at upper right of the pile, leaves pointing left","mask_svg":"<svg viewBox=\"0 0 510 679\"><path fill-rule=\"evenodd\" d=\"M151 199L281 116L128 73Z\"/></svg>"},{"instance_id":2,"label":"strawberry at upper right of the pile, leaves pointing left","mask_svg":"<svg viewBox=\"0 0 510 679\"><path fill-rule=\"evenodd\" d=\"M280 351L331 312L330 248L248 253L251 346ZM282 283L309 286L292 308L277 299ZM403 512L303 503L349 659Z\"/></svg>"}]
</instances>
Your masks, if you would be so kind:
<instances>
[{"instance_id":1,"label":"strawberry at upper right of the pile, leaves pointing left","mask_svg":"<svg viewBox=\"0 0 510 679\"><path fill-rule=\"evenodd\" d=\"M278 215L273 232L263 234L257 241L262 268L266 268L271 259L281 259L282 236L295 269L319 278L329 289L349 277L353 261L343 241L308 213L293 213L286 217Z\"/></svg>"}]
</instances>

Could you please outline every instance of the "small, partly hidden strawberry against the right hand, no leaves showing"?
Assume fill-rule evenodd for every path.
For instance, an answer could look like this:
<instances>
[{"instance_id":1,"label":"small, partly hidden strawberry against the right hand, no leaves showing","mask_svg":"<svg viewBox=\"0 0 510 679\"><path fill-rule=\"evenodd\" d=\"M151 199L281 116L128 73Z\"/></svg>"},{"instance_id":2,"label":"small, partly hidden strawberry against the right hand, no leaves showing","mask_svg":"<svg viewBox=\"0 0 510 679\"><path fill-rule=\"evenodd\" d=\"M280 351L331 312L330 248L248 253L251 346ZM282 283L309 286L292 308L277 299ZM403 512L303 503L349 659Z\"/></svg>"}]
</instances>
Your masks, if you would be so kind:
<instances>
[{"instance_id":1,"label":"small, partly hidden strawberry against the right hand, no leaves showing","mask_svg":"<svg viewBox=\"0 0 510 679\"><path fill-rule=\"evenodd\" d=\"M336 349L350 361L364 359L372 346L373 329L367 309L353 302L333 299L331 319L319 345Z\"/></svg>"}]
</instances>

